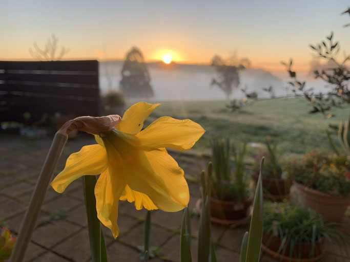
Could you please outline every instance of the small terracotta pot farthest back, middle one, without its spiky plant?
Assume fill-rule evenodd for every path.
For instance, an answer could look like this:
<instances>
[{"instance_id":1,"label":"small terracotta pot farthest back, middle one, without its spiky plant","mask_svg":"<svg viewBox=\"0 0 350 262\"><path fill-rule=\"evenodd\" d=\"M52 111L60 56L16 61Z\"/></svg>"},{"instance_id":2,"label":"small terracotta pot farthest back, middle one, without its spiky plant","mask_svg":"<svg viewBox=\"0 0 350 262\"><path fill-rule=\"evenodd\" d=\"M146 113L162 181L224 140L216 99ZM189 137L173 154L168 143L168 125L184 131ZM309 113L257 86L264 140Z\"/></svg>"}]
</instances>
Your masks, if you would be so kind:
<instances>
[{"instance_id":1,"label":"small terracotta pot farthest back, middle one, without its spiky plant","mask_svg":"<svg viewBox=\"0 0 350 262\"><path fill-rule=\"evenodd\" d=\"M258 174L252 174L252 178L257 183L259 176ZM291 180L261 177L261 182L264 192L264 199L281 201L289 198L289 193L292 186Z\"/></svg>"}]
</instances>

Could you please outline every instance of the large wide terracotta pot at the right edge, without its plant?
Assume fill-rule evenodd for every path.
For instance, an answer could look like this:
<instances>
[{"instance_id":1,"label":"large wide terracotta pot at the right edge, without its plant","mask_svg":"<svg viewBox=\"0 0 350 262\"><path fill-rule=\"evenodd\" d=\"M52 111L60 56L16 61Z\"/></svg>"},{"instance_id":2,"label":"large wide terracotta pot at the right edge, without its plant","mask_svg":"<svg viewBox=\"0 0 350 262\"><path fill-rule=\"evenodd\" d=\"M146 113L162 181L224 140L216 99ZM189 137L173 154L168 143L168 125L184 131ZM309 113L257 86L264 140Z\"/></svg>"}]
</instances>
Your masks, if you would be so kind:
<instances>
[{"instance_id":1,"label":"large wide terracotta pot at the right edge, without its plant","mask_svg":"<svg viewBox=\"0 0 350 262\"><path fill-rule=\"evenodd\" d=\"M298 198L304 208L316 210L327 222L341 222L348 205L350 195L347 198L334 196L293 181Z\"/></svg>"}]
</instances>

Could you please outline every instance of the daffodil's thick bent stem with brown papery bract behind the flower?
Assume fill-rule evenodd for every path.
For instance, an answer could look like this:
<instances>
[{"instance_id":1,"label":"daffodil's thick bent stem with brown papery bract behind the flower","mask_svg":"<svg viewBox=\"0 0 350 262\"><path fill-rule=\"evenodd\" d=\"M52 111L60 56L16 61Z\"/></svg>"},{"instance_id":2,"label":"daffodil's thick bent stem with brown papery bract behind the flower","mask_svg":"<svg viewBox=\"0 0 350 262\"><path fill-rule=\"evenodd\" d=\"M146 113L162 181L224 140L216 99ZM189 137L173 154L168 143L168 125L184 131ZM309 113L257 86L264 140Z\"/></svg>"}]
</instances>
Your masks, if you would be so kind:
<instances>
[{"instance_id":1,"label":"daffodil's thick bent stem with brown papery bract behind the flower","mask_svg":"<svg viewBox=\"0 0 350 262\"><path fill-rule=\"evenodd\" d=\"M110 115L106 117L78 117L66 122L56 133L46 157L42 171L31 196L22 226L20 227L16 245L12 251L10 262L20 262L26 254L26 250L33 233L36 219L42 207L46 191L52 180L52 174L57 166L63 148L67 142L68 134L78 129L90 134L99 135L114 129L121 121L120 116Z\"/></svg>"}]
</instances>

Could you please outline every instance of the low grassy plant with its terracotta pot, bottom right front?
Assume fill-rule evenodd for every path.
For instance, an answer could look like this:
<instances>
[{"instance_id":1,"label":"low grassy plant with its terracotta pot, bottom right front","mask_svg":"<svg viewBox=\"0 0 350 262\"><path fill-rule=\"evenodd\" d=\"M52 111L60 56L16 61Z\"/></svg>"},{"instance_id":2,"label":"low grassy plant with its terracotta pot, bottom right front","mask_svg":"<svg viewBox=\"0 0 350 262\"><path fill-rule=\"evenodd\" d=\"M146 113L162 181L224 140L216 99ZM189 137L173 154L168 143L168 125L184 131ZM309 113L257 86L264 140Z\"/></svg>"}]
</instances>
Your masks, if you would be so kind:
<instances>
[{"instance_id":1,"label":"low grassy plant with its terracotta pot, bottom right front","mask_svg":"<svg viewBox=\"0 0 350 262\"><path fill-rule=\"evenodd\" d=\"M262 250L278 261L311 262L322 258L326 240L340 239L344 246L348 237L334 228L334 223L323 223L312 209L283 202L264 204Z\"/></svg>"}]
</instances>

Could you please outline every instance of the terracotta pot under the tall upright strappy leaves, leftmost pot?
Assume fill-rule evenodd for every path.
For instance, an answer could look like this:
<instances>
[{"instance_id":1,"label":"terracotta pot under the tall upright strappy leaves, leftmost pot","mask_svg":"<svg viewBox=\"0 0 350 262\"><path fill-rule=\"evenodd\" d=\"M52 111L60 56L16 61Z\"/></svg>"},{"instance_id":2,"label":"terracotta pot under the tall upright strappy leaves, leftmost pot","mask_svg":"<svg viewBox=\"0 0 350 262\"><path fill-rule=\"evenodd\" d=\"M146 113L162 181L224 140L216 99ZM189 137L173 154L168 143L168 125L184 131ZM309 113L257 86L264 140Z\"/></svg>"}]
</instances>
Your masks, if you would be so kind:
<instances>
[{"instance_id":1,"label":"terracotta pot under the tall upright strappy leaves, leftmost pot","mask_svg":"<svg viewBox=\"0 0 350 262\"><path fill-rule=\"evenodd\" d=\"M211 221L220 225L234 225L242 223L251 215L253 198L242 202L223 201L215 198L210 199ZM202 200L198 199L196 209L201 210Z\"/></svg>"}]
</instances>

